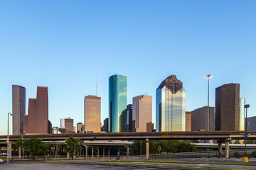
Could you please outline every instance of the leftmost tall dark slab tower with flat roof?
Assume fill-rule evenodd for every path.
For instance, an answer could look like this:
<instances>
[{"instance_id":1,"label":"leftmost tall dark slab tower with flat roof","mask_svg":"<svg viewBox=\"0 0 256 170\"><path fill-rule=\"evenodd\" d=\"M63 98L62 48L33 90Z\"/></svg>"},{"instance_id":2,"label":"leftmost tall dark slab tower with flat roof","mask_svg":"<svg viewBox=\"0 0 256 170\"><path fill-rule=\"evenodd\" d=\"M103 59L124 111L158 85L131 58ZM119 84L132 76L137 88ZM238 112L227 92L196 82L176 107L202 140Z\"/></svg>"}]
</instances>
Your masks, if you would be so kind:
<instances>
[{"instance_id":1,"label":"leftmost tall dark slab tower with flat roof","mask_svg":"<svg viewBox=\"0 0 256 170\"><path fill-rule=\"evenodd\" d=\"M13 135L23 134L23 118L26 114L26 88L12 85Z\"/></svg>"}]
</instances>

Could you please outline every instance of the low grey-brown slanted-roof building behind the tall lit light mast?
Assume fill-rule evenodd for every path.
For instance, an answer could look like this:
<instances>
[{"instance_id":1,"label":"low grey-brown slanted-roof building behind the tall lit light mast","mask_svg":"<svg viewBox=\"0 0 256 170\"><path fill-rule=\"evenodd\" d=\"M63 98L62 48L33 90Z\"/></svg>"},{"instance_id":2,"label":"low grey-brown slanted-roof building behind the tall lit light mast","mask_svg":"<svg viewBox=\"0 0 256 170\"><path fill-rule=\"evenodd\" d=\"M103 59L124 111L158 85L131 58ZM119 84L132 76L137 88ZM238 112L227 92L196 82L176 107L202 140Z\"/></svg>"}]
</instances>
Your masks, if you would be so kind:
<instances>
[{"instance_id":1,"label":"low grey-brown slanted-roof building behind the tall lit light mast","mask_svg":"<svg viewBox=\"0 0 256 170\"><path fill-rule=\"evenodd\" d=\"M209 131L214 131L214 107L209 107ZM208 106L197 108L191 112L191 131L208 130Z\"/></svg>"}]
</instances>

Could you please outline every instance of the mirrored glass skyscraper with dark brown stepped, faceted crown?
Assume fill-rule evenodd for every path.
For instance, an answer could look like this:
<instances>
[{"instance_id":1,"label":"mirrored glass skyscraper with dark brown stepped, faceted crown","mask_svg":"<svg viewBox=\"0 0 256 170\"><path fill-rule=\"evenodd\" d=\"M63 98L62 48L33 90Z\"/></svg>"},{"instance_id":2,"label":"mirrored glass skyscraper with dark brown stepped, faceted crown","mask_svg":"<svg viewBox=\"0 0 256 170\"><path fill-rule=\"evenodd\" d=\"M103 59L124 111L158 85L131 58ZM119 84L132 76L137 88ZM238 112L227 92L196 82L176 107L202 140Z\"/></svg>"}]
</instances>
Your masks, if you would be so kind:
<instances>
[{"instance_id":1,"label":"mirrored glass skyscraper with dark brown stepped, faceted crown","mask_svg":"<svg viewBox=\"0 0 256 170\"><path fill-rule=\"evenodd\" d=\"M156 89L156 132L186 130L186 91L171 75Z\"/></svg>"}]
</instances>

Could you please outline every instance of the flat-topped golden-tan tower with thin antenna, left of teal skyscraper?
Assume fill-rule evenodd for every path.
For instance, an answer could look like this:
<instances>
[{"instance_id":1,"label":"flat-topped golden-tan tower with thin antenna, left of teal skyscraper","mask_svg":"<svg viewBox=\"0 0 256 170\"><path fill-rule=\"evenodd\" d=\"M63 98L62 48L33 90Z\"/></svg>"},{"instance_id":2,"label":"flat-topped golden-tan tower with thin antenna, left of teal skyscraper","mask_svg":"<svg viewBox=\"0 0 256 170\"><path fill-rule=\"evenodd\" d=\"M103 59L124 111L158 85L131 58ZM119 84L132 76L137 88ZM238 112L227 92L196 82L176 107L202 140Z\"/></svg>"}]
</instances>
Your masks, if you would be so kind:
<instances>
[{"instance_id":1,"label":"flat-topped golden-tan tower with thin antenna, left of teal skyscraper","mask_svg":"<svg viewBox=\"0 0 256 170\"><path fill-rule=\"evenodd\" d=\"M100 132L100 97L85 96L85 131Z\"/></svg>"}]
</instances>

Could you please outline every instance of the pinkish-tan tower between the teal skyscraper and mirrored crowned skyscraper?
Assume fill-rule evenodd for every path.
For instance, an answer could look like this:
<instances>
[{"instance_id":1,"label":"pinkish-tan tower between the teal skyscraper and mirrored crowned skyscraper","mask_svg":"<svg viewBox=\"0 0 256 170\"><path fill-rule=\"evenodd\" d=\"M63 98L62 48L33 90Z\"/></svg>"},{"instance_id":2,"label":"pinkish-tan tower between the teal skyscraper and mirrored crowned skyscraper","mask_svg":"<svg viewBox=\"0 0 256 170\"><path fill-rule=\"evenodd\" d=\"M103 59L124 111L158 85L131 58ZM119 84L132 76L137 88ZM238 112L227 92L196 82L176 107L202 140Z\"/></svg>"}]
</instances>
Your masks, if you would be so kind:
<instances>
[{"instance_id":1,"label":"pinkish-tan tower between the teal skyscraper and mirrored crowned skyscraper","mask_svg":"<svg viewBox=\"0 0 256 170\"><path fill-rule=\"evenodd\" d=\"M132 98L132 122L135 132L152 132L152 96Z\"/></svg>"}]
</instances>

